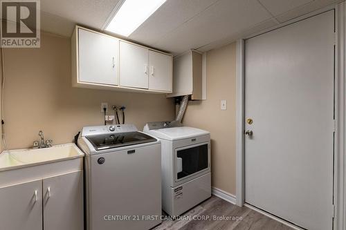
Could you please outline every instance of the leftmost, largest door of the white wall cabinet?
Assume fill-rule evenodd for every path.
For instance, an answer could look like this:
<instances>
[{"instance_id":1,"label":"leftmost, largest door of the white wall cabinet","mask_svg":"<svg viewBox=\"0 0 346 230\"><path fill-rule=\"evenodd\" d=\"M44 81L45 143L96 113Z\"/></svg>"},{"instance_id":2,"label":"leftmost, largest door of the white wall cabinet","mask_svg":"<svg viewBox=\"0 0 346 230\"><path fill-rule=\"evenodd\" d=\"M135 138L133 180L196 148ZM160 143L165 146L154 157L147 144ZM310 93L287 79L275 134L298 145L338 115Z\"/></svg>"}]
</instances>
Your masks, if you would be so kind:
<instances>
[{"instance_id":1,"label":"leftmost, largest door of the white wall cabinet","mask_svg":"<svg viewBox=\"0 0 346 230\"><path fill-rule=\"evenodd\" d=\"M78 30L79 81L118 85L119 39Z\"/></svg>"}]
</instances>

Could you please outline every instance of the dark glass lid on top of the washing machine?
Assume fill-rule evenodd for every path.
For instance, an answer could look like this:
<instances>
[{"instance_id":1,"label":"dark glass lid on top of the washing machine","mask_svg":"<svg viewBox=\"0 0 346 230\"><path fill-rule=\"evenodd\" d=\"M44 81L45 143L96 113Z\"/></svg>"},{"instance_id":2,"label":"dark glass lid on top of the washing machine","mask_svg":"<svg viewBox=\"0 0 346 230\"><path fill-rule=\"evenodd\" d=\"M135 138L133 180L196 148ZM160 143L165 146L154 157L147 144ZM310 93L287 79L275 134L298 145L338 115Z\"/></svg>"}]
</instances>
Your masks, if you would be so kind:
<instances>
[{"instance_id":1,"label":"dark glass lid on top of the washing machine","mask_svg":"<svg viewBox=\"0 0 346 230\"><path fill-rule=\"evenodd\" d=\"M101 135L86 136L86 139L93 145L95 150L104 150L108 148L119 148L134 144L143 144L147 142L156 142L154 137L151 137L142 132L128 133L107 133Z\"/></svg>"}]
</instances>

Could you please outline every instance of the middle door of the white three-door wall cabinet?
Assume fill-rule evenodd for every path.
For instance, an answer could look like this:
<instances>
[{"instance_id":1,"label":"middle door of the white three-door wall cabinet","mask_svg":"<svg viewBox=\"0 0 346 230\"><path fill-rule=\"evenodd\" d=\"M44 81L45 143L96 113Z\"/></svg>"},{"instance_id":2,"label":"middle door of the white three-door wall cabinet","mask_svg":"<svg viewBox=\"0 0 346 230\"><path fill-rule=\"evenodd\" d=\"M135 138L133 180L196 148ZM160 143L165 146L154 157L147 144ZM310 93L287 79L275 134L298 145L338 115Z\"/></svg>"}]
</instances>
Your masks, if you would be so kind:
<instances>
[{"instance_id":1,"label":"middle door of the white three-door wall cabinet","mask_svg":"<svg viewBox=\"0 0 346 230\"><path fill-rule=\"evenodd\" d=\"M120 86L148 88L148 49L120 41Z\"/></svg>"}]
</instances>

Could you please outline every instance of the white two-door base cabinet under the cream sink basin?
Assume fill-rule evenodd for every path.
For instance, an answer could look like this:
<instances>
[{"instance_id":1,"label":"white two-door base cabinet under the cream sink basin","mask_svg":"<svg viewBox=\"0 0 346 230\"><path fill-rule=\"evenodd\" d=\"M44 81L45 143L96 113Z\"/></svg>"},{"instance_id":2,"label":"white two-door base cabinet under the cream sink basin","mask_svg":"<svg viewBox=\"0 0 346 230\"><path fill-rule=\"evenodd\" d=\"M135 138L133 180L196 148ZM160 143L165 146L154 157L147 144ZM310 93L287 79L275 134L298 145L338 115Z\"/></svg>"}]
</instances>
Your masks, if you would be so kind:
<instances>
[{"instance_id":1,"label":"white two-door base cabinet under the cream sink basin","mask_svg":"<svg viewBox=\"0 0 346 230\"><path fill-rule=\"evenodd\" d=\"M84 230L83 158L0 171L0 229Z\"/></svg>"}]
</instances>

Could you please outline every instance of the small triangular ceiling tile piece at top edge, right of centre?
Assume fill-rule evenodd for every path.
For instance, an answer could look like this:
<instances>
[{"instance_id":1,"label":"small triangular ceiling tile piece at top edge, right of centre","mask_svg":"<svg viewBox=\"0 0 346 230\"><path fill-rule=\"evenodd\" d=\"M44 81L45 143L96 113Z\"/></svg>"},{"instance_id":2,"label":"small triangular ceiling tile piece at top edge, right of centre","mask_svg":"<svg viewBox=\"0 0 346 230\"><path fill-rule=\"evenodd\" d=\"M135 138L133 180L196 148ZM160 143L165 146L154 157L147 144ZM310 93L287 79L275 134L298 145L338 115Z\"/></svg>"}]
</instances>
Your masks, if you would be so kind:
<instances>
[{"instance_id":1,"label":"small triangular ceiling tile piece at top edge, right of centre","mask_svg":"<svg viewBox=\"0 0 346 230\"><path fill-rule=\"evenodd\" d=\"M284 12L303 6L313 0L259 0L272 15L281 15Z\"/></svg>"}]
</instances>

